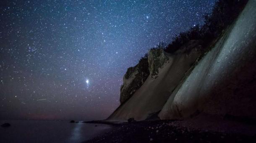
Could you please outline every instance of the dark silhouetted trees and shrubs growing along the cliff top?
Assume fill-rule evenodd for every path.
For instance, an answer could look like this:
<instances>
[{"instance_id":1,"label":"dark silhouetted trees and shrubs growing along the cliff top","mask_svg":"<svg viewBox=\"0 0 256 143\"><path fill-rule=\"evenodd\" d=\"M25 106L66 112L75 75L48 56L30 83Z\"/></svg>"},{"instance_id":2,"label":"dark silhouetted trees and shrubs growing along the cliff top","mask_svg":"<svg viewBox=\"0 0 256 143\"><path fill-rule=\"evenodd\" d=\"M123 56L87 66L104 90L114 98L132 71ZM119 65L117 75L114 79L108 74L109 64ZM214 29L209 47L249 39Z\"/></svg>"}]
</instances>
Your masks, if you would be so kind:
<instances>
[{"instance_id":1,"label":"dark silhouetted trees and shrubs growing along the cliff top","mask_svg":"<svg viewBox=\"0 0 256 143\"><path fill-rule=\"evenodd\" d=\"M179 33L172 38L169 45L159 43L156 48L163 48L167 53L174 53L190 40L201 40L202 47L206 48L222 33L222 30L232 24L247 2L248 0L217 0L212 13L204 15L204 25L196 25L186 32ZM145 58L147 54L141 59Z\"/></svg>"}]
</instances>

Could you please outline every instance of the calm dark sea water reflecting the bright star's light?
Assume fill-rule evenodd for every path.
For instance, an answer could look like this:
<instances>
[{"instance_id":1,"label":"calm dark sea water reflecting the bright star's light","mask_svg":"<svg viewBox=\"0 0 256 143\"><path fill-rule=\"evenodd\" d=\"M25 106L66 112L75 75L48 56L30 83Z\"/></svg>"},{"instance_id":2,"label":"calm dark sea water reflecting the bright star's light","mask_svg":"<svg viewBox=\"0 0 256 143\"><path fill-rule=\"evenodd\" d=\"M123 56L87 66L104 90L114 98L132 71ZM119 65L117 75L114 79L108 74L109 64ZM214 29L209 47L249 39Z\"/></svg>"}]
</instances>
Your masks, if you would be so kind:
<instances>
[{"instance_id":1,"label":"calm dark sea water reflecting the bright star's light","mask_svg":"<svg viewBox=\"0 0 256 143\"><path fill-rule=\"evenodd\" d=\"M0 143L80 143L111 128L110 125L68 121L0 120ZM95 127L97 125L97 127Z\"/></svg>"}]
</instances>

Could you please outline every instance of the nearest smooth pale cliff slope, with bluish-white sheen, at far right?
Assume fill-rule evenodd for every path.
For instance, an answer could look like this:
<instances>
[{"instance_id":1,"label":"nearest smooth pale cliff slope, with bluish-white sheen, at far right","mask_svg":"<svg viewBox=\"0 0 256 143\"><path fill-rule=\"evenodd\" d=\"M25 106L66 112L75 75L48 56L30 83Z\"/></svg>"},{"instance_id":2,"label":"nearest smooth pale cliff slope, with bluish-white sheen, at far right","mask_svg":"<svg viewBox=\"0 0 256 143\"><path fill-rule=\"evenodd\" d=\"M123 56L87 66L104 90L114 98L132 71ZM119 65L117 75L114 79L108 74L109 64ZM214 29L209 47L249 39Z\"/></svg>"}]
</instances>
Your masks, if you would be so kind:
<instances>
[{"instance_id":1,"label":"nearest smooth pale cliff slope, with bluish-white sheen, at far right","mask_svg":"<svg viewBox=\"0 0 256 143\"><path fill-rule=\"evenodd\" d=\"M256 106L255 93L254 96L249 91L248 94L235 93L236 89L242 91L240 86L243 83L255 78L255 57L256 1L249 0L234 25L230 26L214 48L170 95L159 117L188 118L199 110L211 114L256 118L253 111ZM253 90L255 87L243 88Z\"/></svg>"}]
</instances>

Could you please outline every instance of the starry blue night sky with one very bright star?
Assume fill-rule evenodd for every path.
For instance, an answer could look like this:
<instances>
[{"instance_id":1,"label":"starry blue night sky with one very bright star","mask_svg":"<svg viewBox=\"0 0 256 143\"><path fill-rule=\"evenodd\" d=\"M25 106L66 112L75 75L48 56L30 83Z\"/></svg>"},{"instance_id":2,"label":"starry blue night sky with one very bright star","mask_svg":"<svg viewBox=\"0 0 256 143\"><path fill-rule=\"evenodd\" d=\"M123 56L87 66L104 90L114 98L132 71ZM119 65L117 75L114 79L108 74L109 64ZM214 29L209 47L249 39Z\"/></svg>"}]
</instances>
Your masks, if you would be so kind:
<instances>
[{"instance_id":1,"label":"starry blue night sky with one very bright star","mask_svg":"<svg viewBox=\"0 0 256 143\"><path fill-rule=\"evenodd\" d=\"M107 118L127 68L214 1L1 0L0 119Z\"/></svg>"}]
</instances>

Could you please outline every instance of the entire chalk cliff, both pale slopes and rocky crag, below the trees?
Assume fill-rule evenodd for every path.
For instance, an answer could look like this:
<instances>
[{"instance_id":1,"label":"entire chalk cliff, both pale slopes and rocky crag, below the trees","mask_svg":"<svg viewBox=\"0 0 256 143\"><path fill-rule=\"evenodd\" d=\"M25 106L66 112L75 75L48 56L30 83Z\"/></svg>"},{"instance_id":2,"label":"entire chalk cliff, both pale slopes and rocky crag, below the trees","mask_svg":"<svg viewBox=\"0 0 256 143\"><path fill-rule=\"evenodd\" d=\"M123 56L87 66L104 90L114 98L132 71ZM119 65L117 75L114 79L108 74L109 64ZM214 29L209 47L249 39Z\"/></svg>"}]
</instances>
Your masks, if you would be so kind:
<instances>
[{"instance_id":1,"label":"entire chalk cliff, both pale slopes and rocky crag, below the trees","mask_svg":"<svg viewBox=\"0 0 256 143\"><path fill-rule=\"evenodd\" d=\"M256 119L256 1L208 47L190 40L175 53L149 51L129 68L121 105L108 121L185 119L200 113Z\"/></svg>"}]
</instances>

